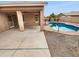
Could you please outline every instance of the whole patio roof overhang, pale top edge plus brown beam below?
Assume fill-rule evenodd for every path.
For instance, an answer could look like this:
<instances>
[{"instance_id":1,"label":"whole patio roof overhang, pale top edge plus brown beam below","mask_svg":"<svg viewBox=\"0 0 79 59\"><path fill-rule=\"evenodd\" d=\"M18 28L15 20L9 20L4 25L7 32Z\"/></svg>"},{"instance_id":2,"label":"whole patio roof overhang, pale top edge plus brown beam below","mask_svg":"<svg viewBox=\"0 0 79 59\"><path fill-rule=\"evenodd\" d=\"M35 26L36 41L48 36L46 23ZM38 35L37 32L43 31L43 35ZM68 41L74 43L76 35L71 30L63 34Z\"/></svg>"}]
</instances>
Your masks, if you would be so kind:
<instances>
[{"instance_id":1,"label":"whole patio roof overhang, pale top edge plus brown beam below","mask_svg":"<svg viewBox=\"0 0 79 59\"><path fill-rule=\"evenodd\" d=\"M39 12L47 2L12 2L0 4L0 12Z\"/></svg>"}]
</instances>

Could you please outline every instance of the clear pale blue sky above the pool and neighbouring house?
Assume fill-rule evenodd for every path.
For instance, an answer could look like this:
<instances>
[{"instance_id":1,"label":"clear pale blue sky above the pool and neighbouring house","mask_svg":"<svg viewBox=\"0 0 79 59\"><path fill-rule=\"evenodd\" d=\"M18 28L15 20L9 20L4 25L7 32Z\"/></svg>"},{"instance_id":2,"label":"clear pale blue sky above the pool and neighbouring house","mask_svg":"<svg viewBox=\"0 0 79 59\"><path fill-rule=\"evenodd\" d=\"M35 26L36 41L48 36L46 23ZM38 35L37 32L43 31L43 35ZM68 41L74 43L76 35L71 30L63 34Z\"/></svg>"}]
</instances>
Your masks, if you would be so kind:
<instances>
[{"instance_id":1,"label":"clear pale blue sky above the pool and neighbouring house","mask_svg":"<svg viewBox=\"0 0 79 59\"><path fill-rule=\"evenodd\" d=\"M79 11L79 1L48 1L44 7L44 15L59 14L71 11Z\"/></svg>"}]
</instances>

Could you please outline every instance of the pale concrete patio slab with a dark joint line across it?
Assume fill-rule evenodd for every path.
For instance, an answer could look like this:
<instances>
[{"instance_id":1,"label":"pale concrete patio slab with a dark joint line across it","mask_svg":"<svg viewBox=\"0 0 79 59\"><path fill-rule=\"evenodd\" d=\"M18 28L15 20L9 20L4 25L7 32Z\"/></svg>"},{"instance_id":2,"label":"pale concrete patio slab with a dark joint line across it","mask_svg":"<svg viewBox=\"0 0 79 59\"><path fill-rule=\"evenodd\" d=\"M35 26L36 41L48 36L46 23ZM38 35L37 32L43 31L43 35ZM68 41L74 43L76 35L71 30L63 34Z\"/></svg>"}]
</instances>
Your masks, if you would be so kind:
<instances>
[{"instance_id":1,"label":"pale concrete patio slab with a dark joint line across it","mask_svg":"<svg viewBox=\"0 0 79 59\"><path fill-rule=\"evenodd\" d=\"M44 33L38 27L24 32L9 30L0 33L0 57L49 57Z\"/></svg>"}]
</instances>

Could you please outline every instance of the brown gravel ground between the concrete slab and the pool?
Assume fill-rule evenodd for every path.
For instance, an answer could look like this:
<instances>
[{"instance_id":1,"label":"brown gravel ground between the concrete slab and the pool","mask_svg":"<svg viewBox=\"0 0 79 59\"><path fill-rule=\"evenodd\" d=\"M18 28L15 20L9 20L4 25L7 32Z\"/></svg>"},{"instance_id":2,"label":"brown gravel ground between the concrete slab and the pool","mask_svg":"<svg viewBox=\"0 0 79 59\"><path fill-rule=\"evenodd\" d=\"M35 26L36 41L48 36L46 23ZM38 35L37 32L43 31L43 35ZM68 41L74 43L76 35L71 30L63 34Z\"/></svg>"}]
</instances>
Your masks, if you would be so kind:
<instances>
[{"instance_id":1,"label":"brown gravel ground between the concrete slab and the pool","mask_svg":"<svg viewBox=\"0 0 79 59\"><path fill-rule=\"evenodd\" d=\"M67 35L53 31L44 31L52 57L78 57L79 35Z\"/></svg>"}]
</instances>

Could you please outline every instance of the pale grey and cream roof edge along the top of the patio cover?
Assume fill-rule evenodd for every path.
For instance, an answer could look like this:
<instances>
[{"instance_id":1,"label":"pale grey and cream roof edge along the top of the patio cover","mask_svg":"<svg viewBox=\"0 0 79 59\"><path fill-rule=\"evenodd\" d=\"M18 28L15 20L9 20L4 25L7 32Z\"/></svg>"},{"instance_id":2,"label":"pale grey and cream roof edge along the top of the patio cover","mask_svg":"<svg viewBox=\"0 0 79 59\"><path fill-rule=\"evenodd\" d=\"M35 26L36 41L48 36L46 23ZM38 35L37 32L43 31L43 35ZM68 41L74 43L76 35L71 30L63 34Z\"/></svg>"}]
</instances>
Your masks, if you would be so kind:
<instances>
[{"instance_id":1,"label":"pale grey and cream roof edge along the top of the patio cover","mask_svg":"<svg viewBox=\"0 0 79 59\"><path fill-rule=\"evenodd\" d=\"M11 2L0 4L0 7L16 7L16 6L44 6L47 2Z\"/></svg>"}]
</instances>

